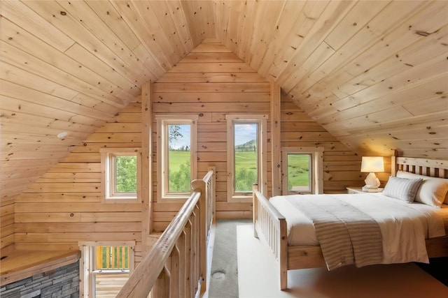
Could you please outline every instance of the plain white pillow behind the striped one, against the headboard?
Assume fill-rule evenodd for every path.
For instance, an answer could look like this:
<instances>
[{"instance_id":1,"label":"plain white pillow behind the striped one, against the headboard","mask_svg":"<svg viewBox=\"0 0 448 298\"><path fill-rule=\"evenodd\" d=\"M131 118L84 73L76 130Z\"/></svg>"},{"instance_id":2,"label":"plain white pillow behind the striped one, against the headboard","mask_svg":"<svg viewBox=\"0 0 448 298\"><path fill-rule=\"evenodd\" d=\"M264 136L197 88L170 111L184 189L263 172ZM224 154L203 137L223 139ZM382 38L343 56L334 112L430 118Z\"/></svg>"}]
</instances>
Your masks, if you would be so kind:
<instances>
[{"instance_id":1,"label":"plain white pillow behind the striped one, against the headboard","mask_svg":"<svg viewBox=\"0 0 448 298\"><path fill-rule=\"evenodd\" d=\"M448 179L428 177L402 171L397 172L397 177L407 179L423 179L423 182L416 193L415 202L421 202L437 208L440 208L443 202L448 204Z\"/></svg>"}]
</instances>

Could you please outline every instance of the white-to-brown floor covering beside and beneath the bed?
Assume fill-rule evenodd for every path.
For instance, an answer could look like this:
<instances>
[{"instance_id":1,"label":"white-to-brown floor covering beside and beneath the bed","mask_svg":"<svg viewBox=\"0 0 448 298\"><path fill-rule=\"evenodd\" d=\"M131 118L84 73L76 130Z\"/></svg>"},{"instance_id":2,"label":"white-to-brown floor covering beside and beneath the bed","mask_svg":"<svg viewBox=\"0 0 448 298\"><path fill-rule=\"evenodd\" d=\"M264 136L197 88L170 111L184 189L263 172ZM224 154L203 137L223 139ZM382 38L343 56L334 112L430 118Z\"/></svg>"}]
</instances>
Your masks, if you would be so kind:
<instances>
[{"instance_id":1,"label":"white-to-brown floor covering beside and beneath the bed","mask_svg":"<svg viewBox=\"0 0 448 298\"><path fill-rule=\"evenodd\" d=\"M290 270L281 291L278 262L251 225L237 227L237 249L239 298L448 297L448 287L414 263Z\"/></svg>"}]
</instances>

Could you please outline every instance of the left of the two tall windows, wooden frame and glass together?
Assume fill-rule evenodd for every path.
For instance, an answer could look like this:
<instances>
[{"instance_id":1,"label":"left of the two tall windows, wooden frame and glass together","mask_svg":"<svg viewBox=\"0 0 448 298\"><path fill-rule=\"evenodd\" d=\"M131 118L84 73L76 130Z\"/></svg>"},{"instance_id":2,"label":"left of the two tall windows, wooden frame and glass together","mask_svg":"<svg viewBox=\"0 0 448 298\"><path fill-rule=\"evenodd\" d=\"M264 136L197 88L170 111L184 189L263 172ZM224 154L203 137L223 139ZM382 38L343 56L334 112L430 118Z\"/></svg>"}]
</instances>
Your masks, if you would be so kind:
<instances>
[{"instance_id":1,"label":"left of the two tall windows, wooden frame and glass together","mask_svg":"<svg viewBox=\"0 0 448 298\"><path fill-rule=\"evenodd\" d=\"M186 199L196 179L197 115L159 115L156 119L159 198Z\"/></svg>"}]
</instances>

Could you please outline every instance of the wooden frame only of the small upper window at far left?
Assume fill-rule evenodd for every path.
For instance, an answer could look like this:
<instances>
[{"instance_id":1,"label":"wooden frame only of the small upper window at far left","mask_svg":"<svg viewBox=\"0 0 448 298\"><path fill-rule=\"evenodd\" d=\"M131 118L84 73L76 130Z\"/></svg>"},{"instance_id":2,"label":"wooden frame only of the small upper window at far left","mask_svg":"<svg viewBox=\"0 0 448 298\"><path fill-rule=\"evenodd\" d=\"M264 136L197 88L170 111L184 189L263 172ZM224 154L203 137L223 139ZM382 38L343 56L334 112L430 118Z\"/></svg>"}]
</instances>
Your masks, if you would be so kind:
<instances>
[{"instance_id":1,"label":"wooden frame only of the small upper window at far left","mask_svg":"<svg viewBox=\"0 0 448 298\"><path fill-rule=\"evenodd\" d=\"M141 201L141 149L140 148L102 148L99 149L102 165L102 202L139 203ZM115 175L112 172L116 156L137 156L137 192L115 193Z\"/></svg>"}]
</instances>

